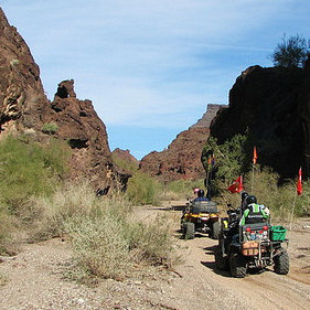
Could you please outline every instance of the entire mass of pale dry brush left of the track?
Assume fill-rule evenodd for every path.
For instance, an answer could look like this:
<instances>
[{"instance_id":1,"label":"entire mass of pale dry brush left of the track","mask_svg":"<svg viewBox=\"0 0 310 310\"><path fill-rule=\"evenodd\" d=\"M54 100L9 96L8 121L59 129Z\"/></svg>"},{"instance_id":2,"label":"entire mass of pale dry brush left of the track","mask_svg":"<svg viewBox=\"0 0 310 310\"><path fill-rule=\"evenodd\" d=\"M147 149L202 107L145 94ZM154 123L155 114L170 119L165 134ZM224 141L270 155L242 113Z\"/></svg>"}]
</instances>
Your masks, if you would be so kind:
<instances>
[{"instance_id":1,"label":"entire mass of pale dry brush left of the track","mask_svg":"<svg viewBox=\"0 0 310 310\"><path fill-rule=\"evenodd\" d=\"M173 237L167 218L132 221L122 195L97 197L87 183L66 184L49 199L33 200L31 240L67 234L77 279L127 277L136 264L170 265ZM133 217L135 218L135 217Z\"/></svg>"}]
</instances>

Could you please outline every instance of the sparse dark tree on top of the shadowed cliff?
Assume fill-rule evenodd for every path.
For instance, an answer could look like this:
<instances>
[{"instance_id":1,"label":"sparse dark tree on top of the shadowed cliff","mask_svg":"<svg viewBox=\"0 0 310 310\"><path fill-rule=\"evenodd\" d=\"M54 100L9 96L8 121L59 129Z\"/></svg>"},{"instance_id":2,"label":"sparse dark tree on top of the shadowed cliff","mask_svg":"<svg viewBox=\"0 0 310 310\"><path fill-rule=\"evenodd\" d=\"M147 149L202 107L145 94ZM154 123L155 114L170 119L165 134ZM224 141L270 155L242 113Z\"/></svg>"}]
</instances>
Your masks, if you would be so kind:
<instances>
[{"instance_id":1,"label":"sparse dark tree on top of the shadowed cliff","mask_svg":"<svg viewBox=\"0 0 310 310\"><path fill-rule=\"evenodd\" d=\"M271 60L277 67L303 67L310 52L310 41L297 34L286 38L277 45Z\"/></svg>"}]
</instances>

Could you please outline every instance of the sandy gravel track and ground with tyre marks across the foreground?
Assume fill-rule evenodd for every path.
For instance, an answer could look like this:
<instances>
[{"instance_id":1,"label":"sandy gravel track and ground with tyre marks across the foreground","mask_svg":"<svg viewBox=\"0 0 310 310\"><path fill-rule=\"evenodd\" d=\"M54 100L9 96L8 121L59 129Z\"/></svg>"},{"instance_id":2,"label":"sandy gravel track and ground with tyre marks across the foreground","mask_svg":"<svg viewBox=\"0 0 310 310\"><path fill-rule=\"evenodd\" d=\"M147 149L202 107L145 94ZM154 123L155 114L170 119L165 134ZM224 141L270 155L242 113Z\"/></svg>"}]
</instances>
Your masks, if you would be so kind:
<instances>
[{"instance_id":1,"label":"sandy gravel track and ground with tyre marks across the foreground","mask_svg":"<svg viewBox=\"0 0 310 310\"><path fill-rule=\"evenodd\" d=\"M164 212L178 218L180 212L145 209L143 214ZM291 269L288 276L271 269L235 279L214 265L216 240L196 234L175 243L183 263L174 271L150 270L143 279L105 280L94 288L64 277L71 264L66 242L25 245L23 252L0 264L7 284L0 287L0 309L310 309L310 221L300 221L289 232Z\"/></svg>"}]
</instances>

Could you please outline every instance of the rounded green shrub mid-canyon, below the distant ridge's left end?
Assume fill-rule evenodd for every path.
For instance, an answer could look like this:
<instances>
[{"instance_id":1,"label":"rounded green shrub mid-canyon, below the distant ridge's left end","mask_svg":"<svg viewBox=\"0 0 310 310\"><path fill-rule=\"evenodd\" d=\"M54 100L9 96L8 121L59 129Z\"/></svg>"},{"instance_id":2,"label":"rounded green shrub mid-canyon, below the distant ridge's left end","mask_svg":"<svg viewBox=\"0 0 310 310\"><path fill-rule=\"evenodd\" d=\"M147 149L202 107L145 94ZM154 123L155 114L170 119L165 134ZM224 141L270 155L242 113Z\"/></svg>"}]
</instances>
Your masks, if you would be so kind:
<instances>
[{"instance_id":1,"label":"rounded green shrub mid-canyon, below the distant ridge's left end","mask_svg":"<svg viewBox=\"0 0 310 310\"><path fill-rule=\"evenodd\" d=\"M135 204L159 204L162 185L148 174L138 171L129 179L127 196Z\"/></svg>"}]
</instances>

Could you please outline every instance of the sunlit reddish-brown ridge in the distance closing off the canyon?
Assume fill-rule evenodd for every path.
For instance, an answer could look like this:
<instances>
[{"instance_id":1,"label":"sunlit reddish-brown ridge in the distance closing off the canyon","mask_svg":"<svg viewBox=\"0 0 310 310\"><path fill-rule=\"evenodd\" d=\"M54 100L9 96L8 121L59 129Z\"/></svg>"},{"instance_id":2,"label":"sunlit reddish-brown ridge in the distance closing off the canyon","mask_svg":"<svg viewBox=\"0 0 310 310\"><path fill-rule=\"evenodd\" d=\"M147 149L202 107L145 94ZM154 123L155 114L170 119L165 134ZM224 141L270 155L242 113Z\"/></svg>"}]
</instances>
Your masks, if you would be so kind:
<instances>
[{"instance_id":1,"label":"sunlit reddish-brown ridge in the distance closing off the canyon","mask_svg":"<svg viewBox=\"0 0 310 310\"><path fill-rule=\"evenodd\" d=\"M197 124L182 131L168 149L153 151L140 161L140 169L162 181L205 178L201 163L202 149L209 138L210 124L223 105L207 105L207 110Z\"/></svg>"}]
</instances>

